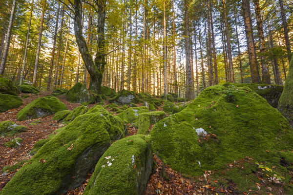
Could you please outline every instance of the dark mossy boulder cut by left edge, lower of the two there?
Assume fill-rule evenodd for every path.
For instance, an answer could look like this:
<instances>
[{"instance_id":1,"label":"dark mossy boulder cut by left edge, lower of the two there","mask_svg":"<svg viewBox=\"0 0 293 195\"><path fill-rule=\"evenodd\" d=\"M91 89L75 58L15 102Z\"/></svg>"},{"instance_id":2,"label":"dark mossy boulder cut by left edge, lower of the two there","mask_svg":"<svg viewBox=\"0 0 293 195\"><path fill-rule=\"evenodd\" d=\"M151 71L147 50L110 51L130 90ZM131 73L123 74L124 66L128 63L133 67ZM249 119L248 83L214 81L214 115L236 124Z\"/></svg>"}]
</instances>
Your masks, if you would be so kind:
<instances>
[{"instance_id":1,"label":"dark mossy boulder cut by left edge, lower of the two there","mask_svg":"<svg viewBox=\"0 0 293 195\"><path fill-rule=\"evenodd\" d=\"M22 99L18 96L11 96L8 94L0 94L0 112L18 108L22 105Z\"/></svg>"}]
</instances>

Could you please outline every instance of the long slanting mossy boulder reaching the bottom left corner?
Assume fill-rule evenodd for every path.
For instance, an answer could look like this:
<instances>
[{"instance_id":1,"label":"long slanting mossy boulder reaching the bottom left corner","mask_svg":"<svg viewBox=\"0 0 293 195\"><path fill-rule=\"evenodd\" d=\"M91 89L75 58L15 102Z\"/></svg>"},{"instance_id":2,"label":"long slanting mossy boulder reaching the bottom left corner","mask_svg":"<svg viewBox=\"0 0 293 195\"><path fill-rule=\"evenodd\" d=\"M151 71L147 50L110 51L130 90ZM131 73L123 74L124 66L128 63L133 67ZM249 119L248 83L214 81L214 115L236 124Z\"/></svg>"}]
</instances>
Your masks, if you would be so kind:
<instances>
[{"instance_id":1,"label":"long slanting mossy boulder reaching the bottom left corner","mask_svg":"<svg viewBox=\"0 0 293 195\"><path fill-rule=\"evenodd\" d=\"M124 137L119 117L104 108L95 111L57 130L1 195L61 195L80 186L111 143Z\"/></svg>"}]
</instances>

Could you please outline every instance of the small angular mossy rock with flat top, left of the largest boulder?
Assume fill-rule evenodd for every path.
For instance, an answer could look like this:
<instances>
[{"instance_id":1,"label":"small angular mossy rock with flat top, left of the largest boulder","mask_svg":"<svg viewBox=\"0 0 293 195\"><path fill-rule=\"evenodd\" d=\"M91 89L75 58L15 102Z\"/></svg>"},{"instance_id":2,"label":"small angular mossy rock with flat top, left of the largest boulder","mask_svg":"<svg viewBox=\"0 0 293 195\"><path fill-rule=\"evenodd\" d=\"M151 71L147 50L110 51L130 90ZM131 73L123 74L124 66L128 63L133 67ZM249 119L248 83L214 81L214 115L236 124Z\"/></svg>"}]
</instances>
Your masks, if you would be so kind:
<instances>
[{"instance_id":1,"label":"small angular mossy rock with flat top, left of the largest boulder","mask_svg":"<svg viewBox=\"0 0 293 195\"><path fill-rule=\"evenodd\" d=\"M137 134L148 135L148 129L150 125L155 124L166 117L167 115L164 111L154 111L139 114Z\"/></svg>"}]
</instances>

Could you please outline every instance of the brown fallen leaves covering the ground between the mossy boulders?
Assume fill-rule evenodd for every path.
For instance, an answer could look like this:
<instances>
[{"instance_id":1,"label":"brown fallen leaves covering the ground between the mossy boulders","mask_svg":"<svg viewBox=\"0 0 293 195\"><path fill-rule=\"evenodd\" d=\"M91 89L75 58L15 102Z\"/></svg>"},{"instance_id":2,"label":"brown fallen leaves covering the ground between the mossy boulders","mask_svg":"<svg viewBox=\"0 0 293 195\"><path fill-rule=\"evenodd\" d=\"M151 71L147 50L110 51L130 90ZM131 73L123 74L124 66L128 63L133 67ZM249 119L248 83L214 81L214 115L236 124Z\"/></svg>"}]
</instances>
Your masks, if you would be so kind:
<instances>
[{"instance_id":1,"label":"brown fallen leaves covering the ground between the mossy boulders","mask_svg":"<svg viewBox=\"0 0 293 195\"><path fill-rule=\"evenodd\" d=\"M29 94L29 98L23 99L23 105L21 107L0 113L0 121L11 120L28 128L27 132L22 132L13 137L0 137L0 170L2 170L6 165L14 165L20 161L27 161L30 159L32 157L30 151L32 150L34 144L41 139L47 138L48 135L63 126L62 123L57 123L56 120L52 120L53 116L29 119L25 121L17 120L17 113L24 106L37 98L44 97L49 94L49 92L41 92L38 95ZM79 103L68 102L65 95L59 96L58 98L66 105L68 110L72 110L75 107L81 105ZM109 104L107 101L105 101L105 103ZM93 105L89 105L89 107L92 106ZM162 110L162 108L160 108L160 110ZM30 124L34 121L36 121L34 125ZM150 129L152 127L153 125L150 127ZM129 124L128 136L135 135L136 133L137 129L131 127ZM19 148L8 148L4 146L7 141L15 137L21 137L23 139L23 142ZM156 163L156 166L149 178L145 195L258 194L255 191L250 191L248 193L241 191L236 192L232 187L212 187L213 185L211 184L218 182L212 178L212 171L206 171L202 176L197 177L183 176L182 174L171 169L169 166L163 165L162 161L157 156L154 155L153 159ZM166 176L162 176L162 167L166 167L166 176L168 178L166 178ZM18 170L19 169L16 169L15 171L12 171L8 174L0 173L0 191ZM88 174L86 180L80 187L68 191L66 195L82 195L90 176L91 173ZM211 177L210 179L209 176ZM261 183L261 181L258 182ZM256 185L257 184L258 183L256 182ZM270 193L268 194L270 195Z\"/></svg>"}]
</instances>

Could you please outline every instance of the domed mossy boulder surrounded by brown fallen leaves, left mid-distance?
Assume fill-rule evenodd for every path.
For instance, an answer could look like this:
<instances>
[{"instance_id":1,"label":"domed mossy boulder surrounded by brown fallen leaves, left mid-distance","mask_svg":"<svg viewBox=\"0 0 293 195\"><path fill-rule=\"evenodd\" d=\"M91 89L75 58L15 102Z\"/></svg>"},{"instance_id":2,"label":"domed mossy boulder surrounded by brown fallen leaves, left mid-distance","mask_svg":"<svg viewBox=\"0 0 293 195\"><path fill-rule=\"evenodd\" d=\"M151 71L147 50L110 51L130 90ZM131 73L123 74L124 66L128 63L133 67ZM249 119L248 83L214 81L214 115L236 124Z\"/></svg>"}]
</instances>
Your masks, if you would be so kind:
<instances>
[{"instance_id":1,"label":"domed mossy boulder surrounded by brown fallen leaves, left mid-distance","mask_svg":"<svg viewBox=\"0 0 293 195\"><path fill-rule=\"evenodd\" d=\"M38 98L26 105L18 114L18 120L29 118L40 118L53 115L59 111L66 110L65 104L56 97Z\"/></svg>"}]
</instances>

